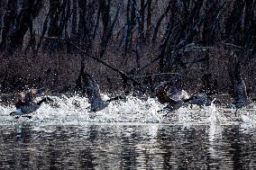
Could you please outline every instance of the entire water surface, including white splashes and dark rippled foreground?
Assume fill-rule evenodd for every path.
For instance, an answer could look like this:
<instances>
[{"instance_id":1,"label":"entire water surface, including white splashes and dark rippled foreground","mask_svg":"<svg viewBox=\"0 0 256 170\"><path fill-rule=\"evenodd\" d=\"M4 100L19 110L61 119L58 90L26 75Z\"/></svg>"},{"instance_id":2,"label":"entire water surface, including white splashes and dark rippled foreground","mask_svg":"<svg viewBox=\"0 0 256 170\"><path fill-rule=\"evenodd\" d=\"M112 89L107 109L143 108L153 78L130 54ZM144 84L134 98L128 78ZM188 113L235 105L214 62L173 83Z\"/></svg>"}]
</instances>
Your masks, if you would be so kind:
<instances>
[{"instance_id":1,"label":"entire water surface, including white splashes and dark rippled foreground","mask_svg":"<svg viewBox=\"0 0 256 170\"><path fill-rule=\"evenodd\" d=\"M87 98L54 101L18 120L8 115L14 106L0 104L0 168L256 168L254 104L238 118L214 105L164 117L151 98L128 97L96 113L88 112Z\"/></svg>"}]
</instances>

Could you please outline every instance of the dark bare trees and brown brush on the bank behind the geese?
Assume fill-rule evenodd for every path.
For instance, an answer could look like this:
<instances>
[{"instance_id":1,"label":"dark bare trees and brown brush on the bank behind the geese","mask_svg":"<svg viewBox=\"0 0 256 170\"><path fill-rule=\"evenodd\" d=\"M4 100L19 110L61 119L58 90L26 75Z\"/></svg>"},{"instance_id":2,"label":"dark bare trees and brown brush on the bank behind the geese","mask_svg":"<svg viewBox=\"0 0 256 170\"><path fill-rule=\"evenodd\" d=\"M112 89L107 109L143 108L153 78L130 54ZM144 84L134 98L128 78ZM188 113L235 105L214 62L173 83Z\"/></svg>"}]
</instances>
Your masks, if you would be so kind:
<instances>
[{"instance_id":1,"label":"dark bare trees and brown brush on the bank behind the geese","mask_svg":"<svg viewBox=\"0 0 256 170\"><path fill-rule=\"evenodd\" d=\"M67 40L149 89L181 76L187 90L195 92L201 77L212 74L218 90L227 92L229 59L236 56L246 85L255 92L255 0L0 2L4 93L32 86L73 90L81 63L104 90L134 83Z\"/></svg>"}]
</instances>

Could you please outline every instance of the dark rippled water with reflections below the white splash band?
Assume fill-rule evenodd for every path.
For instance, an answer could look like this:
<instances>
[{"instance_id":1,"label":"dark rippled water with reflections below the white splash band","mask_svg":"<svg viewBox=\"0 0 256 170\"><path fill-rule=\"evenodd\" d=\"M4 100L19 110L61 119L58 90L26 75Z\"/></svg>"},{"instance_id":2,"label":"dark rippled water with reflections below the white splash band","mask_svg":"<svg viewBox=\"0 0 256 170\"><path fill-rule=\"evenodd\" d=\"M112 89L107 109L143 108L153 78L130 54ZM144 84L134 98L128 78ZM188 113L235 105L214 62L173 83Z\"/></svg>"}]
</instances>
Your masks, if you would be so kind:
<instances>
[{"instance_id":1,"label":"dark rippled water with reflections below the white splash band","mask_svg":"<svg viewBox=\"0 0 256 170\"><path fill-rule=\"evenodd\" d=\"M3 169L254 169L255 130L240 125L1 126Z\"/></svg>"}]
</instances>

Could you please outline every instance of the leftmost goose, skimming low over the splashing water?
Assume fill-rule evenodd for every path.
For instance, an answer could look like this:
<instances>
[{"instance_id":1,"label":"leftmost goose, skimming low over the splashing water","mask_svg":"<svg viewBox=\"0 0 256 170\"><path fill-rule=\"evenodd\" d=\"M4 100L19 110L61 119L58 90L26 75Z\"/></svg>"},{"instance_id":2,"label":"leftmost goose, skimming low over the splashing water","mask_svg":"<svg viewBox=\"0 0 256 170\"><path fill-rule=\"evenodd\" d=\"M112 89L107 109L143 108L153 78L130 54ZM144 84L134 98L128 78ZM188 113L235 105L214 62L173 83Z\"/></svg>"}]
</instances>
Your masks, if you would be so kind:
<instances>
[{"instance_id":1,"label":"leftmost goose, skimming low over the splashing water","mask_svg":"<svg viewBox=\"0 0 256 170\"><path fill-rule=\"evenodd\" d=\"M24 92L21 92L18 94L18 101L14 104L16 107L15 112L11 112L11 116L15 116L16 119L22 117L27 117L27 118L32 118L30 114L32 112L35 112L38 110L41 106L41 103L45 103L48 101L53 101L50 99L50 97L44 97L41 99L39 102L34 102L34 99L36 98L37 95L43 94L44 89L30 89Z\"/></svg>"}]
</instances>

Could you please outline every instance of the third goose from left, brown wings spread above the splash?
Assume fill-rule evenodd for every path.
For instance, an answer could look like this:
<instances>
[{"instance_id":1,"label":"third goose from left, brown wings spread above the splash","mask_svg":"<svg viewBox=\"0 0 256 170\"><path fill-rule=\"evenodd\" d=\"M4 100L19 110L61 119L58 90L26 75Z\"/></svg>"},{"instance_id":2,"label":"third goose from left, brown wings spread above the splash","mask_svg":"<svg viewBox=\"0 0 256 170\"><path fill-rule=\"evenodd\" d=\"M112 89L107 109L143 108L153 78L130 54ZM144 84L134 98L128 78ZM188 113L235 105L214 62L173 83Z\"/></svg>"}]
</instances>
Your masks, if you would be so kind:
<instances>
[{"instance_id":1,"label":"third goose from left, brown wings spread above the splash","mask_svg":"<svg viewBox=\"0 0 256 170\"><path fill-rule=\"evenodd\" d=\"M168 104L164 109L173 112L184 104L183 101L188 98L188 94L182 89L182 86L181 80L169 80L155 87L154 91L158 101L162 104Z\"/></svg>"}]
</instances>

